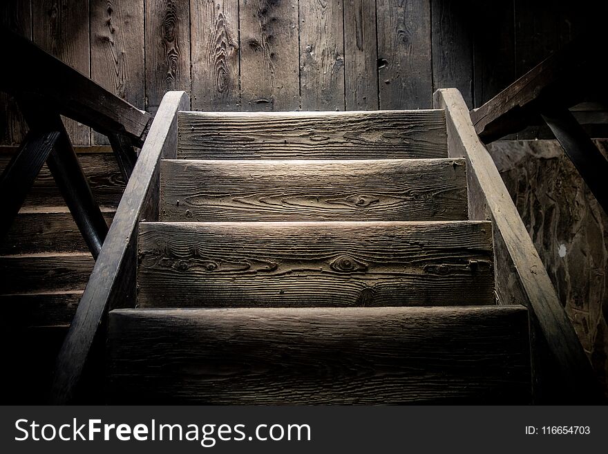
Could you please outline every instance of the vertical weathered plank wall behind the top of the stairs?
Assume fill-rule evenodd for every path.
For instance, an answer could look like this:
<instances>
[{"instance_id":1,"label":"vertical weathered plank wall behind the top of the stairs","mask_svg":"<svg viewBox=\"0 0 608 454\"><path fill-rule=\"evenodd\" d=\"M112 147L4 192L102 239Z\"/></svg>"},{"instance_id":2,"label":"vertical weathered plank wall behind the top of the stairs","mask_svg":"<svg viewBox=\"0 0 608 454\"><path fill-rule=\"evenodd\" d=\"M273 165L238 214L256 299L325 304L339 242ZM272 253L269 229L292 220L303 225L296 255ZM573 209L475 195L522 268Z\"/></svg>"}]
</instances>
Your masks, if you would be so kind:
<instances>
[{"instance_id":1,"label":"vertical weathered plank wall behind the top of the stairs","mask_svg":"<svg viewBox=\"0 0 608 454\"><path fill-rule=\"evenodd\" d=\"M584 29L579 3L3 0L0 26L152 113L177 89L207 111L429 108L448 86L473 107ZM0 144L18 144L15 102L0 106Z\"/></svg>"}]
</instances>

